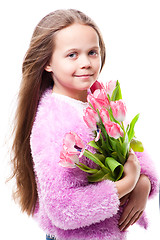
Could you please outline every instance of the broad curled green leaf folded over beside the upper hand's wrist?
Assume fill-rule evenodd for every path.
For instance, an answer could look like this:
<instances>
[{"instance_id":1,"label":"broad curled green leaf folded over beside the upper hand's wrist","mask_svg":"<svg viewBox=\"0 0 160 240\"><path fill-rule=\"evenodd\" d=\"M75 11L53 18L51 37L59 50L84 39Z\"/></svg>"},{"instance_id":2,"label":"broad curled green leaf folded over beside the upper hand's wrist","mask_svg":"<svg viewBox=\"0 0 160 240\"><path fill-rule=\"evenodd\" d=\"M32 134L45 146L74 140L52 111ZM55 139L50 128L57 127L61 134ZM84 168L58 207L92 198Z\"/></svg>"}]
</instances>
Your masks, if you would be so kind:
<instances>
[{"instance_id":1,"label":"broad curled green leaf folded over beside the upper hand's wrist","mask_svg":"<svg viewBox=\"0 0 160 240\"><path fill-rule=\"evenodd\" d=\"M105 165L107 165L115 178L115 181L119 180L123 174L123 165L117 162L114 158L107 157L105 160Z\"/></svg>"}]
</instances>

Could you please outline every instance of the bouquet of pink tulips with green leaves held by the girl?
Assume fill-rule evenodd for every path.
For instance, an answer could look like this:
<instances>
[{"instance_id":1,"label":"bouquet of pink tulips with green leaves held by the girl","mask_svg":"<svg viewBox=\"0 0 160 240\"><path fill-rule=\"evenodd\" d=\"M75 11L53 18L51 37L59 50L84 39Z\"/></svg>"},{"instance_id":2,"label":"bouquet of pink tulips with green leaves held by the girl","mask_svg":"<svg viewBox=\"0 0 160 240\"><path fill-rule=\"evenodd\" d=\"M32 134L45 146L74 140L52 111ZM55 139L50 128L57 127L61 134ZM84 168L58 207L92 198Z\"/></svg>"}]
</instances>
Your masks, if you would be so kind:
<instances>
[{"instance_id":1,"label":"bouquet of pink tulips with green leaves held by the girl","mask_svg":"<svg viewBox=\"0 0 160 240\"><path fill-rule=\"evenodd\" d=\"M139 114L131 123L124 124L126 105L122 100L119 82L110 81L106 86L98 84L100 89L88 95L89 106L85 109L83 117L94 136L94 140L88 145L96 151L88 151L81 138L75 132L69 132L63 140L59 163L63 167L79 167L87 172L89 182L104 179L117 181L123 175L123 166L130 148L136 152L144 150L142 143L136 140L134 132ZM81 163L82 156L96 163L96 168Z\"/></svg>"}]
</instances>

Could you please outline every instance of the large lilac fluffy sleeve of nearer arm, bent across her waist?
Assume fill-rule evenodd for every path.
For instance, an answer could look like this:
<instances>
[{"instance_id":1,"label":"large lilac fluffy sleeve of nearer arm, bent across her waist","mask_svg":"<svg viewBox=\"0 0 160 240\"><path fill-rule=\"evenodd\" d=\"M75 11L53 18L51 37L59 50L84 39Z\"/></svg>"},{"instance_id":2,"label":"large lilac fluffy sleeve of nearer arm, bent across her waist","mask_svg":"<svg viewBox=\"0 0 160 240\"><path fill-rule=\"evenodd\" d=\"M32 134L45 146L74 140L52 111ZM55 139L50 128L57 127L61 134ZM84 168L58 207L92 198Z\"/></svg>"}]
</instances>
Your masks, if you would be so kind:
<instances>
[{"instance_id":1,"label":"large lilac fluffy sleeve of nearer arm, bent across her waist","mask_svg":"<svg viewBox=\"0 0 160 240\"><path fill-rule=\"evenodd\" d=\"M107 180L89 184L85 172L58 164L65 132L76 131L78 127L83 137L83 134L86 135L83 125L64 103L62 112L57 109L58 115L52 111L52 108L55 111L56 105L52 108L44 103L42 105L30 140L41 214L47 214L53 225L64 230L88 226L112 217L119 208L113 182ZM69 117L70 121L64 124L65 117ZM77 126L72 127L73 120Z\"/></svg>"}]
</instances>

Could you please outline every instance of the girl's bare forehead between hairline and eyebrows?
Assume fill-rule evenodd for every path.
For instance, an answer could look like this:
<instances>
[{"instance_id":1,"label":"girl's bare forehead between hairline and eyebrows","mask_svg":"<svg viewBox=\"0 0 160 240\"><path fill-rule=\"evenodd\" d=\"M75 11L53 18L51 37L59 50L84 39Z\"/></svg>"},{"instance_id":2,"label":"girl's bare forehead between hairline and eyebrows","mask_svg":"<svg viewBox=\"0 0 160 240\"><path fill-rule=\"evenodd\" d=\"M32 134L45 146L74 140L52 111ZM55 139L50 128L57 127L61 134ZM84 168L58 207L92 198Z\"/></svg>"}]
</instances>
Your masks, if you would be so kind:
<instances>
[{"instance_id":1,"label":"girl's bare forehead between hairline and eyebrows","mask_svg":"<svg viewBox=\"0 0 160 240\"><path fill-rule=\"evenodd\" d=\"M55 45L61 49L91 45L99 47L99 37L92 27L75 23L57 32Z\"/></svg>"}]
</instances>

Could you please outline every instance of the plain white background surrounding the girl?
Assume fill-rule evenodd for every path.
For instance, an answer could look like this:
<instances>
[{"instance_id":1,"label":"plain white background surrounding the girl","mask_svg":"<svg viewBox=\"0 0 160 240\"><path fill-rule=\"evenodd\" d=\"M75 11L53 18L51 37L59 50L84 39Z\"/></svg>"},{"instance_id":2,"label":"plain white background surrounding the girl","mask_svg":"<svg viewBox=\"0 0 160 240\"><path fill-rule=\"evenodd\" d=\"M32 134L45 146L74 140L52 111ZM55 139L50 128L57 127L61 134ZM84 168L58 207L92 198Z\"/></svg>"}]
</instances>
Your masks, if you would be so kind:
<instances>
[{"instance_id":1,"label":"plain white background surrounding the girl","mask_svg":"<svg viewBox=\"0 0 160 240\"><path fill-rule=\"evenodd\" d=\"M110 1L5 1L0 6L0 239L43 240L37 224L22 214L11 199L10 127L21 80L21 65L36 24L59 8L76 8L95 20L107 49L100 80L119 80L127 103L128 118L140 113L137 137L152 156L159 173L160 6L159 0ZM147 204L150 227L130 229L128 240L158 236L158 196ZM22 234L22 235L21 235Z\"/></svg>"}]
</instances>

